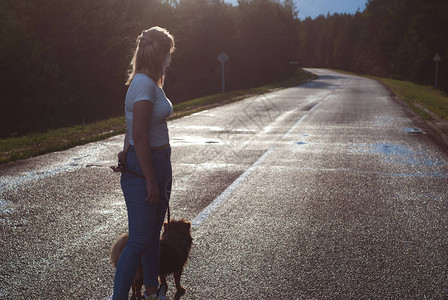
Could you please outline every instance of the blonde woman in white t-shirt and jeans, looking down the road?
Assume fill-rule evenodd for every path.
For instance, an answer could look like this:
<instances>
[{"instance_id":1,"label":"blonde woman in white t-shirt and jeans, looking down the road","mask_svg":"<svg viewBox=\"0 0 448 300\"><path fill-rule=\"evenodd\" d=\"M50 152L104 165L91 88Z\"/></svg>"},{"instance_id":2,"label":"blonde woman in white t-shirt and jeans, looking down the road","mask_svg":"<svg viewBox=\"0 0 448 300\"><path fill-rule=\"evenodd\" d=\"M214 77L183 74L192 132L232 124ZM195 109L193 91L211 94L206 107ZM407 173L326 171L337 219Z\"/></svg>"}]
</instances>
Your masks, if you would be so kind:
<instances>
[{"instance_id":1,"label":"blonde woman in white t-shirt and jeans, looking down the road","mask_svg":"<svg viewBox=\"0 0 448 300\"><path fill-rule=\"evenodd\" d=\"M144 298L159 299L160 230L172 183L166 119L173 107L162 88L173 51L170 33L152 27L138 37L131 62L125 101L127 133L123 151L118 155L125 166L121 188L128 211L129 240L118 261L113 299L128 299L140 263Z\"/></svg>"}]
</instances>

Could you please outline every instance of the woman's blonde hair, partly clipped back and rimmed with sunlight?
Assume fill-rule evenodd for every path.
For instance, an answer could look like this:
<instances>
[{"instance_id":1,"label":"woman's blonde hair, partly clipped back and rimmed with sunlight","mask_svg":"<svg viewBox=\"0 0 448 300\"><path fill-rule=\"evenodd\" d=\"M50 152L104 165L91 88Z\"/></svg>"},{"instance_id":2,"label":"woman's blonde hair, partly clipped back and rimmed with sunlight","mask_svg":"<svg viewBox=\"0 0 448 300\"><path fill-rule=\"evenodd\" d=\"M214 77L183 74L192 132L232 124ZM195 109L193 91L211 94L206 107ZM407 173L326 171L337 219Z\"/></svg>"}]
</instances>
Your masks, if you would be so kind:
<instances>
[{"instance_id":1,"label":"woman's blonde hair, partly clipped back and rimmed with sunlight","mask_svg":"<svg viewBox=\"0 0 448 300\"><path fill-rule=\"evenodd\" d=\"M169 53L174 51L174 38L168 30L155 26L144 30L137 38L137 48L131 61L126 85L131 84L136 73L152 78L159 87L165 80L164 63Z\"/></svg>"}]
</instances>

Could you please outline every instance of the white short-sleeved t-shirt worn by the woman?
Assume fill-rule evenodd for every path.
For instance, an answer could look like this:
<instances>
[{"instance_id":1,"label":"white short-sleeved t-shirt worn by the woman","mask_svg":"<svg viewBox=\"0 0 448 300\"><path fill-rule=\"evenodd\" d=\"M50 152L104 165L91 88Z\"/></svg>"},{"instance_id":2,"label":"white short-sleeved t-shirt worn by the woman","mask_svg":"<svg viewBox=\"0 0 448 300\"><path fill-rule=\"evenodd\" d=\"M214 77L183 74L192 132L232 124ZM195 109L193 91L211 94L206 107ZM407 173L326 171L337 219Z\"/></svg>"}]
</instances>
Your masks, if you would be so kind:
<instances>
[{"instance_id":1,"label":"white short-sleeved t-shirt worn by the woman","mask_svg":"<svg viewBox=\"0 0 448 300\"><path fill-rule=\"evenodd\" d=\"M153 104L151 123L149 125L149 143L152 147L163 146L170 142L168 124L166 119L173 112L173 105L152 78L137 73L129 85L125 100L126 125L129 143L134 145L132 139L132 121L134 116L134 103L150 101Z\"/></svg>"}]
</instances>

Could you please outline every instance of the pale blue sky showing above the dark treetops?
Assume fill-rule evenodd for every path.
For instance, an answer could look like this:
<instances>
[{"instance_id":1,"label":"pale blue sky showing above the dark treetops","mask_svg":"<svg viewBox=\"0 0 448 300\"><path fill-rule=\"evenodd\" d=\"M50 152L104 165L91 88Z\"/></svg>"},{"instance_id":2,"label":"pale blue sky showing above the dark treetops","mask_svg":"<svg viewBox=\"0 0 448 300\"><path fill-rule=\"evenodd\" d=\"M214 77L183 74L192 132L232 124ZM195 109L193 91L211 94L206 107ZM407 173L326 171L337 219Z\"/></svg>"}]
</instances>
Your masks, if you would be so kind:
<instances>
[{"instance_id":1,"label":"pale blue sky showing above the dark treetops","mask_svg":"<svg viewBox=\"0 0 448 300\"><path fill-rule=\"evenodd\" d=\"M238 0L226 0L233 5L238 4ZM319 15L326 16L334 13L354 14L359 10L363 11L366 7L367 0L294 0L298 17L304 20L307 17L316 18Z\"/></svg>"}]
</instances>

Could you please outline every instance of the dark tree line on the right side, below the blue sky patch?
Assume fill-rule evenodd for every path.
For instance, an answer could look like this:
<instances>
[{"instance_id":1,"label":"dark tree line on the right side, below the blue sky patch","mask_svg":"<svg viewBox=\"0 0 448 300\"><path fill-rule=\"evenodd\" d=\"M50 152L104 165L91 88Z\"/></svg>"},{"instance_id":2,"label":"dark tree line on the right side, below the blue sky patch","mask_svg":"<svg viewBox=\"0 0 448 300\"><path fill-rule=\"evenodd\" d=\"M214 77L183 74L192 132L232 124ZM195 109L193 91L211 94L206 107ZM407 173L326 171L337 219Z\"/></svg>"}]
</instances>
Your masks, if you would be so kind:
<instances>
[{"instance_id":1,"label":"dark tree line on the right side, below the blue sky patch","mask_svg":"<svg viewBox=\"0 0 448 300\"><path fill-rule=\"evenodd\" d=\"M305 19L300 26L301 63L361 74L435 84L448 91L448 2L369 0L354 15Z\"/></svg>"}]
</instances>

